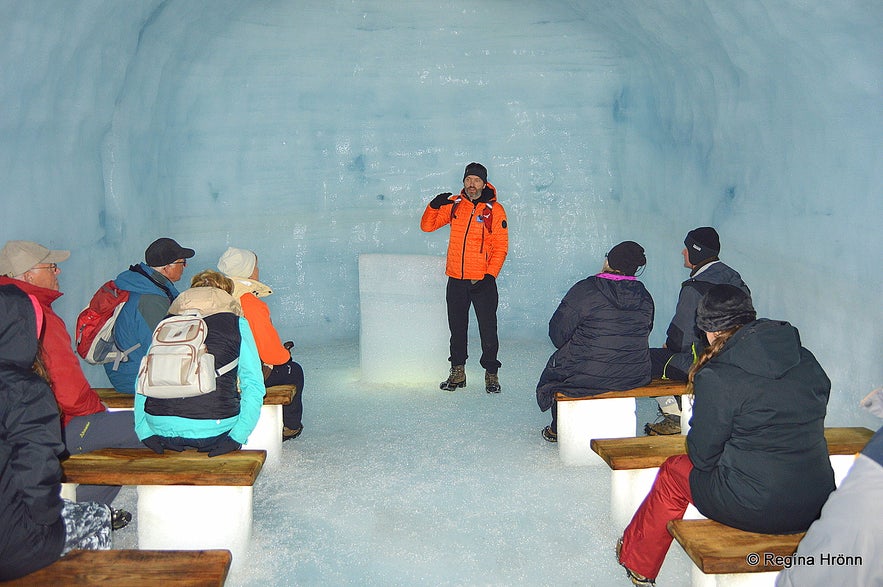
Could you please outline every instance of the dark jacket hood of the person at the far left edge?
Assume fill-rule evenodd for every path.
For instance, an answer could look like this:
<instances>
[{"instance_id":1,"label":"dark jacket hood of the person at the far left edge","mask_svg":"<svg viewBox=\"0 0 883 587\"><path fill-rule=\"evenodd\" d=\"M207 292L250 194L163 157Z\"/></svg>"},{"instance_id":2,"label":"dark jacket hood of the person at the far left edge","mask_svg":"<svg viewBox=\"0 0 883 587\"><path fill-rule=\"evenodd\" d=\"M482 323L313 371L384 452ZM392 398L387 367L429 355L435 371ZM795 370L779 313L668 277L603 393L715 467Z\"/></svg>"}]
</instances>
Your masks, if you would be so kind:
<instances>
[{"instance_id":1,"label":"dark jacket hood of the person at the far left edge","mask_svg":"<svg viewBox=\"0 0 883 587\"><path fill-rule=\"evenodd\" d=\"M14 285L0 287L0 363L30 369L37 357L37 316L31 299Z\"/></svg>"}]
</instances>

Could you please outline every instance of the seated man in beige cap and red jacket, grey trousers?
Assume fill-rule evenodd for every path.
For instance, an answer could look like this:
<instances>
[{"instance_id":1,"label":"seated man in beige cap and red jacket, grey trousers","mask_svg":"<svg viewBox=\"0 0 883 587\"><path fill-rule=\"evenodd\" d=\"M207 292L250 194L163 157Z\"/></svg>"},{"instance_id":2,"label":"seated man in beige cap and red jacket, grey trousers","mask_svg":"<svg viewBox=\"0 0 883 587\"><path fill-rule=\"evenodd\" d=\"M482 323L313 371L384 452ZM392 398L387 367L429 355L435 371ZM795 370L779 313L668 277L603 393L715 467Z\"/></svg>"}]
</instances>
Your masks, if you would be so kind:
<instances>
[{"instance_id":1,"label":"seated man in beige cap and red jacket, grey trousers","mask_svg":"<svg viewBox=\"0 0 883 587\"><path fill-rule=\"evenodd\" d=\"M61 411L62 435L68 452L141 447L132 413L107 411L83 375L64 321L52 309L52 303L62 295L58 263L68 257L70 251L53 251L30 241L9 241L0 250L0 285L14 285L33 296L43 310L40 358ZM77 501L110 505L119 491L119 486L113 485L80 485ZM113 510L113 529L124 527L131 519L129 512Z\"/></svg>"}]
</instances>

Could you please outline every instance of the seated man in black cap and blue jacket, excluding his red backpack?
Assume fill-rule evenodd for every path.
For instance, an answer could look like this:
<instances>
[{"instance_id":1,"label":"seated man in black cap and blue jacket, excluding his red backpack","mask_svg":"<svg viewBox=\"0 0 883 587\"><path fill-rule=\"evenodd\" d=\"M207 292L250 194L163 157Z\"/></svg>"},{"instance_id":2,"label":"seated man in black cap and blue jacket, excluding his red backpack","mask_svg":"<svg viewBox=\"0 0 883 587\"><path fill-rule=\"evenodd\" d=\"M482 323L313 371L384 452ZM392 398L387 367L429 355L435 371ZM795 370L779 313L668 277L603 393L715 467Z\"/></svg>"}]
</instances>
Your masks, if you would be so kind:
<instances>
[{"instance_id":1,"label":"seated man in black cap and blue jacket, excluding his red backpack","mask_svg":"<svg viewBox=\"0 0 883 587\"><path fill-rule=\"evenodd\" d=\"M123 393L135 393L135 378L141 358L153 337L153 329L169 313L169 306L178 297L175 283L181 279L187 259L194 254L170 238L159 238L144 251L144 263L130 266L114 282L129 292L123 309L113 327L117 348L135 349L128 360L118 366L105 363L104 371L111 385Z\"/></svg>"}]
</instances>

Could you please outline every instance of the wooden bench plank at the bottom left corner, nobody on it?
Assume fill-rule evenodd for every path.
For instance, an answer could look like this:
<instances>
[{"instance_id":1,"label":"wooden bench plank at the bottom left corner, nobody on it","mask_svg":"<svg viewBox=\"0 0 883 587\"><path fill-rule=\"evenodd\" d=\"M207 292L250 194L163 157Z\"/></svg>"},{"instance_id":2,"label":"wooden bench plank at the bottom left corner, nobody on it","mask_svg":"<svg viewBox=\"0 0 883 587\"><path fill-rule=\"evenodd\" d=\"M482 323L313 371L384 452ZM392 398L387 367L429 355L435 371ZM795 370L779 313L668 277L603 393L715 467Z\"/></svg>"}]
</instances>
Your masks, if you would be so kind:
<instances>
[{"instance_id":1,"label":"wooden bench plank at the bottom left corner, nobody on it","mask_svg":"<svg viewBox=\"0 0 883 587\"><path fill-rule=\"evenodd\" d=\"M4 585L221 587L232 559L229 550L74 550Z\"/></svg>"}]
</instances>

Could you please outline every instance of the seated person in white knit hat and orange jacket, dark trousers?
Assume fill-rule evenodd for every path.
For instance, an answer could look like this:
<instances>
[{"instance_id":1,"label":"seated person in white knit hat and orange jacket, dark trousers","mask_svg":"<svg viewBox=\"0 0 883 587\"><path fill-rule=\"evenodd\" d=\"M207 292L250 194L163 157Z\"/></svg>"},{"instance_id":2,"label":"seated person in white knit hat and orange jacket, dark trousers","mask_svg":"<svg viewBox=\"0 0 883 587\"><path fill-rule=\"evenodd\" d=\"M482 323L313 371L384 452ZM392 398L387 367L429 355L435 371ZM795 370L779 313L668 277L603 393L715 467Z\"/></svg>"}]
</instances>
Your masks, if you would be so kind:
<instances>
[{"instance_id":1,"label":"seated person in white knit hat and orange jacket, dark trousers","mask_svg":"<svg viewBox=\"0 0 883 587\"><path fill-rule=\"evenodd\" d=\"M282 343L270 319L270 308L260 299L273 290L258 281L258 256L248 249L229 247L218 260L218 269L233 281L233 297L242 306L264 364L264 385L295 387L291 403L282 406L282 440L297 438L303 431L304 370L291 358L294 343Z\"/></svg>"}]
</instances>

